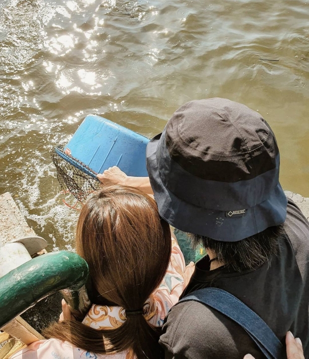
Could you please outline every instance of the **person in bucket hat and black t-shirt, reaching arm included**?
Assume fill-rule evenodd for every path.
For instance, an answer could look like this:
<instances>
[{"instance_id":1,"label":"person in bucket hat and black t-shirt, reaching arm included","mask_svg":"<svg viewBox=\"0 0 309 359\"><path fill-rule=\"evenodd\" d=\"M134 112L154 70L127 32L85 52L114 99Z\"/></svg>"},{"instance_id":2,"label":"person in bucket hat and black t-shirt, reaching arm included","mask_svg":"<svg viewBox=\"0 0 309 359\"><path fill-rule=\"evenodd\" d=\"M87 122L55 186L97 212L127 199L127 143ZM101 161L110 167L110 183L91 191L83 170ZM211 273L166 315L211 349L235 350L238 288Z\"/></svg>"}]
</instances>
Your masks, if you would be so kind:
<instances>
[{"instance_id":1,"label":"person in bucket hat and black t-shirt, reaching arm included","mask_svg":"<svg viewBox=\"0 0 309 359\"><path fill-rule=\"evenodd\" d=\"M183 295L224 289L282 342L289 330L300 337L309 358L309 223L284 194L279 167L269 124L220 98L183 105L147 146L160 216L208 252ZM147 181L131 178L150 193ZM171 309L160 344L165 358L265 358L238 324L194 301Z\"/></svg>"}]
</instances>

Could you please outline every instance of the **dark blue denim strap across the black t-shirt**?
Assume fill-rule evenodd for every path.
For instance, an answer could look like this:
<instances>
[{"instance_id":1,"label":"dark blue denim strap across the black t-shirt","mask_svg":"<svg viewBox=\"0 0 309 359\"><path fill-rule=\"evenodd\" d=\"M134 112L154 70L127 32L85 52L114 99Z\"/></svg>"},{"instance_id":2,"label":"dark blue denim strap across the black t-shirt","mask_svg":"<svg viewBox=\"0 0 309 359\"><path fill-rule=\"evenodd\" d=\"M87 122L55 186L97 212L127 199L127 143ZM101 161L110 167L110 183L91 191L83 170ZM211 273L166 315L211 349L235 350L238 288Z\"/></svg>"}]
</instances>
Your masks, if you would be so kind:
<instances>
[{"instance_id":1,"label":"dark blue denim strap across the black t-shirt","mask_svg":"<svg viewBox=\"0 0 309 359\"><path fill-rule=\"evenodd\" d=\"M270 327L234 295L219 288L203 288L186 295L178 303L189 300L209 306L238 323L267 359L286 358L282 343Z\"/></svg>"}]
</instances>

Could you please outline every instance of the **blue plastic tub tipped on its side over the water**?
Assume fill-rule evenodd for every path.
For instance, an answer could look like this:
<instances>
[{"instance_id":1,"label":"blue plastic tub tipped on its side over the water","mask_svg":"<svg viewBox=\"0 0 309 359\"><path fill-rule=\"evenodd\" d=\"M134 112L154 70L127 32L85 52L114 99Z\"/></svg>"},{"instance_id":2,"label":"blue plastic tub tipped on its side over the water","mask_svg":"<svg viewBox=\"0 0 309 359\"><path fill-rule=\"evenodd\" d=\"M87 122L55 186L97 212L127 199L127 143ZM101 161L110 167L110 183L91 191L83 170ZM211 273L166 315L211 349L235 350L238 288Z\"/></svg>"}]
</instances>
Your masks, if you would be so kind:
<instances>
[{"instance_id":1,"label":"blue plastic tub tipped on its side over the water","mask_svg":"<svg viewBox=\"0 0 309 359\"><path fill-rule=\"evenodd\" d=\"M80 124L63 152L58 150L57 153L92 177L95 175L84 168L83 164L95 173L118 166L128 176L148 176L148 142L149 138L126 127L100 116L89 115Z\"/></svg>"}]
</instances>

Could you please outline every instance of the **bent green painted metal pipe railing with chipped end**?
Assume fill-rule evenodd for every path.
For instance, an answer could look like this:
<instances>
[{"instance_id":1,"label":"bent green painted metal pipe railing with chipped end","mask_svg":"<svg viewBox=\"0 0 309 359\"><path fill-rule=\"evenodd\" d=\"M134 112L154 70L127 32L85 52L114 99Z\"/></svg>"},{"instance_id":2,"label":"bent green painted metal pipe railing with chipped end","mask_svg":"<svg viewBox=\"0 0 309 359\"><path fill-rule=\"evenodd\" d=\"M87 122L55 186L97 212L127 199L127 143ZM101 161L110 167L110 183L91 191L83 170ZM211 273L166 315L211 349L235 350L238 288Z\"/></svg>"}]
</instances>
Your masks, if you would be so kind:
<instances>
[{"instance_id":1,"label":"bent green painted metal pipe railing with chipped end","mask_svg":"<svg viewBox=\"0 0 309 359\"><path fill-rule=\"evenodd\" d=\"M81 318L91 305L85 288L88 276L86 261L67 250L39 255L11 270L0 278L0 328L59 290Z\"/></svg>"}]
</instances>

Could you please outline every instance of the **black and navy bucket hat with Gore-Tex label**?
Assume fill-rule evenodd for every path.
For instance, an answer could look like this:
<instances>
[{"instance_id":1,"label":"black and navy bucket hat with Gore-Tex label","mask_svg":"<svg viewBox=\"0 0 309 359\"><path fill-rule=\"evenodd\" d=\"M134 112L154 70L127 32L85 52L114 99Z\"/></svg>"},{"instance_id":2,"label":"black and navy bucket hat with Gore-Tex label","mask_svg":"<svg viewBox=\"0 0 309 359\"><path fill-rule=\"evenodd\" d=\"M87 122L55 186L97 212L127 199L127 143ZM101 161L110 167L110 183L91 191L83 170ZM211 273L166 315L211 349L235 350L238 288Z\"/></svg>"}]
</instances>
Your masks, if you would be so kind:
<instances>
[{"instance_id":1,"label":"black and navy bucket hat with Gore-Tex label","mask_svg":"<svg viewBox=\"0 0 309 359\"><path fill-rule=\"evenodd\" d=\"M275 135L261 115L220 98L183 105L147 146L160 216L222 241L284 223L279 165Z\"/></svg>"}]
</instances>

